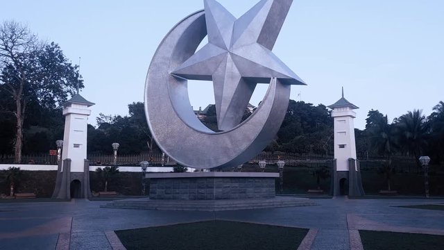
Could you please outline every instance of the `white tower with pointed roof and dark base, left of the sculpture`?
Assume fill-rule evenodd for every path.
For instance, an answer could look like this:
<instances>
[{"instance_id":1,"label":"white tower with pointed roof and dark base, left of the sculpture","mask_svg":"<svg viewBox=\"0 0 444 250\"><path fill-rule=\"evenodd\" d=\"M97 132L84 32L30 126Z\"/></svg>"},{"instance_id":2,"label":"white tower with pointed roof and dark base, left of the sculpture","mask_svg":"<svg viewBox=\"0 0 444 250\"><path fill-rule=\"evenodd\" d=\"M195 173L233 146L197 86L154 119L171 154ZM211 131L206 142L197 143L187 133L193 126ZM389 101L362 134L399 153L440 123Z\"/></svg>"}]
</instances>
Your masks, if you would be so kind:
<instances>
[{"instance_id":1,"label":"white tower with pointed roof and dark base, left of the sculpture","mask_svg":"<svg viewBox=\"0 0 444 250\"><path fill-rule=\"evenodd\" d=\"M87 118L90 106L78 92L62 104L65 116L62 161L58 166L53 198L70 199L91 197L89 161L87 160Z\"/></svg>"}]
</instances>

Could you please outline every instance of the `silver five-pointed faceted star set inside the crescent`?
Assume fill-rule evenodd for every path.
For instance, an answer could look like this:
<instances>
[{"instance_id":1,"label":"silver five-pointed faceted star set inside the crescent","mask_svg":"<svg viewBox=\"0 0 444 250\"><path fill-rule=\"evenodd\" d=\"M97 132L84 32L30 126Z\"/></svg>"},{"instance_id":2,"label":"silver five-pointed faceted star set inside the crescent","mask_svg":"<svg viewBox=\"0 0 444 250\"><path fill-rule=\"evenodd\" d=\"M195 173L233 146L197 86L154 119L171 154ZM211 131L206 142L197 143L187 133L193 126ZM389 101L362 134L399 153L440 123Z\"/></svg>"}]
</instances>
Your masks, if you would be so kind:
<instances>
[{"instance_id":1,"label":"silver five-pointed faceted star set inside the crescent","mask_svg":"<svg viewBox=\"0 0 444 250\"><path fill-rule=\"evenodd\" d=\"M305 85L271 52L293 0L262 0L236 19L214 0L204 0L208 44L171 72L213 81L218 128L241 122L257 83Z\"/></svg>"}]
</instances>

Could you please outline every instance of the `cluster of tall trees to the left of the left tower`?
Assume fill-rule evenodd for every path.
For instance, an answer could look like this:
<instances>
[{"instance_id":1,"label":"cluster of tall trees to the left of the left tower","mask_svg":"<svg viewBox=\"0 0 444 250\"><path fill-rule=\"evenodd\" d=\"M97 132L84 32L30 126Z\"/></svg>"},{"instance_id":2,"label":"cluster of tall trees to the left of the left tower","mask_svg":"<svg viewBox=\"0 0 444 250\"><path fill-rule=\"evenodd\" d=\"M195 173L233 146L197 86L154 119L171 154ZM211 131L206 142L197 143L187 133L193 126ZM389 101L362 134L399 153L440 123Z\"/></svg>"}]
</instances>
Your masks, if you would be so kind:
<instances>
[{"instance_id":1,"label":"cluster of tall trees to the left of the left tower","mask_svg":"<svg viewBox=\"0 0 444 250\"><path fill-rule=\"evenodd\" d=\"M83 88L80 78L58 44L18 22L0 24L0 153L12 149L20 163L23 152L43 146L39 137L60 133L53 131L60 123L56 110Z\"/></svg>"}]
</instances>

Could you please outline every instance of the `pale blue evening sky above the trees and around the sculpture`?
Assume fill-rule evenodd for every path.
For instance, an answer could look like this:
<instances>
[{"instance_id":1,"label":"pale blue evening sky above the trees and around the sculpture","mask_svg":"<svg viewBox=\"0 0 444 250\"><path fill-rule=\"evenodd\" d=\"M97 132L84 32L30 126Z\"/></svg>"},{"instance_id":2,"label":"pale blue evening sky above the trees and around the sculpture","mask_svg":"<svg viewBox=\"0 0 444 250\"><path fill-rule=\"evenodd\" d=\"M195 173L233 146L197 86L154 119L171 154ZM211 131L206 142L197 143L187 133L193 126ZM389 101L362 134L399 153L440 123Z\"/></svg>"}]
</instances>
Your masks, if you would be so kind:
<instances>
[{"instance_id":1,"label":"pale blue evening sky above the trees and around the sculpture","mask_svg":"<svg viewBox=\"0 0 444 250\"><path fill-rule=\"evenodd\" d=\"M258 0L220 0L236 17ZM164 35L203 0L2 1L0 22L28 24L56 42L73 62L81 57L82 94L99 113L127 115L143 101L148 65ZM363 129L370 109L389 119L408 110L425 115L444 101L444 1L294 0L273 52L308 85L291 99L330 105L341 97L359 106ZM268 85L258 85L257 105ZM214 103L212 84L189 83L194 109Z\"/></svg>"}]
</instances>

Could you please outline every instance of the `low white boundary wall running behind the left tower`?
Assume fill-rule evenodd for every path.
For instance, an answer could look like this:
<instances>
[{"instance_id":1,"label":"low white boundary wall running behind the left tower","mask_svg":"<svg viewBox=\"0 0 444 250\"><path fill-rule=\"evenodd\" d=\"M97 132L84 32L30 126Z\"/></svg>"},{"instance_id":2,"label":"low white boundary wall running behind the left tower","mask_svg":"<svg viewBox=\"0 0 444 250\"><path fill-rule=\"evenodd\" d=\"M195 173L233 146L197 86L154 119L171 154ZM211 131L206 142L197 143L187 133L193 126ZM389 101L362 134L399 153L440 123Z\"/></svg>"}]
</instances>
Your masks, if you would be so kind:
<instances>
[{"instance_id":1,"label":"low white boundary wall running behind the left tower","mask_svg":"<svg viewBox=\"0 0 444 250\"><path fill-rule=\"evenodd\" d=\"M57 165L22 165L22 164L0 164L0 170L8 169L9 167L19 167L22 170L29 171L49 171L57 170ZM107 166L89 166L89 171L96 171L96 168L104 168ZM148 167L147 172L173 172L173 167ZM119 167L119 172L142 172L141 167Z\"/></svg>"}]
</instances>

